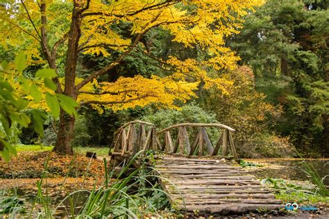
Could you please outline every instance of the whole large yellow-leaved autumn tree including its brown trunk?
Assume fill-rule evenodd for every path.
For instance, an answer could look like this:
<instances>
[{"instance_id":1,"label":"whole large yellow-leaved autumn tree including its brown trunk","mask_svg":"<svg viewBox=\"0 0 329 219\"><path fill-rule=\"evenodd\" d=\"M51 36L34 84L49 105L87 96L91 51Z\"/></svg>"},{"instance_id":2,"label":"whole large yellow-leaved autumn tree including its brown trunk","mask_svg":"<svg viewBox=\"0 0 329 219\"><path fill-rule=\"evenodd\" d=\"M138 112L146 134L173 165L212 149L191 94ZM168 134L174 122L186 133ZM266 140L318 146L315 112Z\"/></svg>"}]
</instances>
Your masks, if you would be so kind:
<instances>
[{"instance_id":1,"label":"whole large yellow-leaved autumn tree including its brown trunk","mask_svg":"<svg viewBox=\"0 0 329 219\"><path fill-rule=\"evenodd\" d=\"M239 60L226 47L225 39L242 27L242 17L261 1L4 1L0 6L1 45L4 49L24 50L27 63L33 67L49 67L56 72L53 83L56 94L77 100L82 106L106 105L115 110L146 104L174 107L186 102L194 90L216 86L228 94L232 81L219 70L232 70ZM155 57L144 43L147 33L161 29L169 43L181 49L195 49L195 57L179 57L168 53ZM162 75L141 75L98 80L119 66L135 51L155 60ZM15 50L14 50L15 52ZM115 57L94 72L80 76L79 57L90 54ZM208 74L214 72L214 74ZM47 98L47 92L32 85L38 96L46 95L52 112L60 115L55 150L71 153L74 117L63 111L60 102ZM40 95L41 93L41 95ZM65 106L64 106L65 107ZM60 112L58 109L60 108Z\"/></svg>"}]
</instances>

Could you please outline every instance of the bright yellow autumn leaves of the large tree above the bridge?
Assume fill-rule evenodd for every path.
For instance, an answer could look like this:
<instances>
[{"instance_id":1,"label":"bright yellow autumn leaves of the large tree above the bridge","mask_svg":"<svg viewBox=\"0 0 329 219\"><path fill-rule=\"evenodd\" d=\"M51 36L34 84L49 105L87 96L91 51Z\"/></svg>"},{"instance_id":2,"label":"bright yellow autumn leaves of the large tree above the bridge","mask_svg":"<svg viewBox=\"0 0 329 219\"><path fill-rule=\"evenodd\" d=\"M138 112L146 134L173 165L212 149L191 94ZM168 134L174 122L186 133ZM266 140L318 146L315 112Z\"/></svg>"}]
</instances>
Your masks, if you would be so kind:
<instances>
[{"instance_id":1,"label":"bright yellow autumn leaves of the large tree above the bridge","mask_svg":"<svg viewBox=\"0 0 329 219\"><path fill-rule=\"evenodd\" d=\"M111 56L111 49L124 56L137 45L143 47L139 42L140 38L154 28L169 31L173 42L183 44L184 47L197 46L207 54L208 58L202 60L182 60L177 57L162 60L173 70L170 76L163 78L155 75L144 78L137 75L133 78L121 77L113 83L85 83L76 90L77 101L92 104L100 112L102 108L99 104L105 104L115 111L151 103L175 107L174 102L186 102L194 97L194 90L201 83L204 88L216 87L223 95L228 95L233 81L228 76L210 75L209 72L235 69L239 57L225 47L225 38L238 33L243 16L262 3L261 0L120 0L107 3L42 0L40 3L47 5L42 13L38 1L22 2L12 0L6 6L0 6L0 38L6 49L24 49L28 54L29 64L49 63L49 60L47 62L43 58L44 49L40 48L40 41L47 40L44 47L49 47L49 51L58 49L60 44L67 41L64 36L69 33L74 7L84 8L81 9L81 37L77 45L78 51L83 54ZM42 15L47 17L44 24ZM115 29L116 24L123 23L130 24L130 34L134 35L132 39L126 38ZM46 30L44 35L48 34L47 36L42 35L42 28ZM65 49L58 51L58 56L51 55L59 58L64 56L63 51ZM60 81L62 88L65 88L65 80ZM76 78L76 86L81 81L83 79Z\"/></svg>"}]
</instances>

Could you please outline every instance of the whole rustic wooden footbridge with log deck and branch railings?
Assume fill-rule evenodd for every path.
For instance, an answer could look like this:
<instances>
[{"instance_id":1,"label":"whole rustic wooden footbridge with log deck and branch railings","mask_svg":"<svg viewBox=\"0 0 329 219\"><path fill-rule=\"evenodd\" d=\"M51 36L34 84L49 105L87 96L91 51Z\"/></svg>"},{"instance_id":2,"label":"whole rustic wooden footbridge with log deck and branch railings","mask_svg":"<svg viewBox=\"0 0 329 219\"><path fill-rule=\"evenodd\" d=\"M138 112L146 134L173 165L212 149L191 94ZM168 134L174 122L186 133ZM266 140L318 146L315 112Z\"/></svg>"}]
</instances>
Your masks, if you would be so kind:
<instances>
[{"instance_id":1,"label":"whole rustic wooden footbridge with log deck and branch railings","mask_svg":"<svg viewBox=\"0 0 329 219\"><path fill-rule=\"evenodd\" d=\"M141 150L162 152L154 165L162 176L160 184L171 204L187 213L227 215L282 207L237 164L234 133L217 123L183 123L156 131L154 124L136 120L115 133L111 161L118 165ZM189 136L194 136L193 142ZM140 160L134 165L138 167Z\"/></svg>"}]
</instances>

